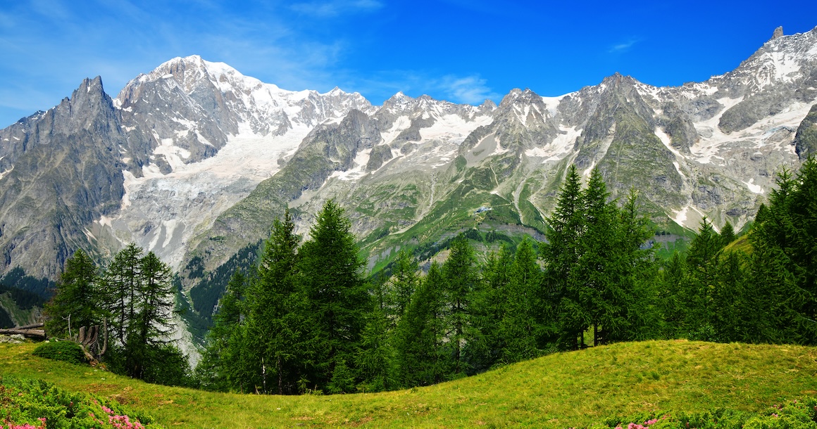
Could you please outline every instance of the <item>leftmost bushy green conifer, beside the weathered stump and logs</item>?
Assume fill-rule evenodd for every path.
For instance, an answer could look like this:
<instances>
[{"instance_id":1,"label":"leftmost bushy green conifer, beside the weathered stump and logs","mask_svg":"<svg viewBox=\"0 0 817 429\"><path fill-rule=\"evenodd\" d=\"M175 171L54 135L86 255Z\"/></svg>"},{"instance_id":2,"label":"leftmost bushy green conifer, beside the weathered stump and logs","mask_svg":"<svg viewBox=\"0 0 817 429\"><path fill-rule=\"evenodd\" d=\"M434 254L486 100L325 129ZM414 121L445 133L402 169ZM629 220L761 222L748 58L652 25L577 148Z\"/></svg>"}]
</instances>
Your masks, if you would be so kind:
<instances>
[{"instance_id":1,"label":"leftmost bushy green conifer, beside the weathered stump and logs","mask_svg":"<svg viewBox=\"0 0 817 429\"><path fill-rule=\"evenodd\" d=\"M73 337L82 326L99 325L102 319L96 293L98 269L83 250L65 261L56 291L45 307L46 330L51 337Z\"/></svg>"}]
</instances>

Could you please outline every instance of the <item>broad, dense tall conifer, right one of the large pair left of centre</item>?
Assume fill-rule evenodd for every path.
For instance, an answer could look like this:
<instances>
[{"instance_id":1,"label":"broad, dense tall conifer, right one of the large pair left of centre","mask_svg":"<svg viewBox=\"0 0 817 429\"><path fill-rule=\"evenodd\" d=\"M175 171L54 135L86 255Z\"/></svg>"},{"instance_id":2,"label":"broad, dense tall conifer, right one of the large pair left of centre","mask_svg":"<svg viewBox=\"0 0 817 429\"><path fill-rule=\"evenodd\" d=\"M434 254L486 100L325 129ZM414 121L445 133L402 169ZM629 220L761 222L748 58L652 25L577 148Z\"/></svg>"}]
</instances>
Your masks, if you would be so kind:
<instances>
[{"instance_id":1,"label":"broad, dense tall conifer, right one of the large pair left of centre","mask_svg":"<svg viewBox=\"0 0 817 429\"><path fill-rule=\"evenodd\" d=\"M348 365L355 361L365 315L372 307L350 228L342 208L326 201L310 228L310 240L300 250L297 269L308 305L308 341L315 356L307 378L319 388L327 386L329 374L354 371ZM345 368L336 370L341 362Z\"/></svg>"}]
</instances>

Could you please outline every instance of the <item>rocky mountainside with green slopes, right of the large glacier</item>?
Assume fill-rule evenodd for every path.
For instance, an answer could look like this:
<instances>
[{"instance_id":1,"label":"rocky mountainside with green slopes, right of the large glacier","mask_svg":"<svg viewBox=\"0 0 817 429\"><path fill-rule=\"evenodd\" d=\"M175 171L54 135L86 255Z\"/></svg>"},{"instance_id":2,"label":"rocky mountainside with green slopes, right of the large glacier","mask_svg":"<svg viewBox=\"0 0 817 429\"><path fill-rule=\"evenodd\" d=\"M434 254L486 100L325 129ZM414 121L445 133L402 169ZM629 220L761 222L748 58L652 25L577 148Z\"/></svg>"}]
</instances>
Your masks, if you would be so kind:
<instances>
[{"instance_id":1,"label":"rocky mountainside with green slopes, right of the large glacier","mask_svg":"<svg viewBox=\"0 0 817 429\"><path fill-rule=\"evenodd\" d=\"M812 30L678 87L616 74L560 97L514 90L480 107L398 94L371 115L315 128L276 175L190 242L187 259L216 268L284 206L305 232L328 198L348 210L375 270L396 250L470 228L542 231L570 163L585 176L599 168L614 197L636 188L664 231L697 228L704 216L741 228L775 173L797 170L810 150L815 80Z\"/></svg>"}]
</instances>

